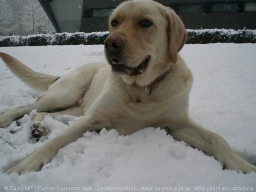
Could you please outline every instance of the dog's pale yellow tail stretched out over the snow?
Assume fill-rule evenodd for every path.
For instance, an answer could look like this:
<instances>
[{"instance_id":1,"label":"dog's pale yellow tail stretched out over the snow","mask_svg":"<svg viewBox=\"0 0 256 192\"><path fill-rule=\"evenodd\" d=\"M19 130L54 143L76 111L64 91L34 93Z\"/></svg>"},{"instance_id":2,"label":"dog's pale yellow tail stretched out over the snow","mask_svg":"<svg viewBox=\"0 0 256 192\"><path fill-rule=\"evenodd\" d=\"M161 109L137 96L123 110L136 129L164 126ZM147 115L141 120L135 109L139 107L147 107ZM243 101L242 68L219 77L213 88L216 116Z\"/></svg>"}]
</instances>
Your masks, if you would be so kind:
<instances>
[{"instance_id":1,"label":"dog's pale yellow tail stretched out over the snow","mask_svg":"<svg viewBox=\"0 0 256 192\"><path fill-rule=\"evenodd\" d=\"M12 73L14 73L21 81L36 90L46 91L49 85L52 85L52 83L59 79L57 76L33 71L22 62L8 54L0 52L0 57Z\"/></svg>"}]
</instances>

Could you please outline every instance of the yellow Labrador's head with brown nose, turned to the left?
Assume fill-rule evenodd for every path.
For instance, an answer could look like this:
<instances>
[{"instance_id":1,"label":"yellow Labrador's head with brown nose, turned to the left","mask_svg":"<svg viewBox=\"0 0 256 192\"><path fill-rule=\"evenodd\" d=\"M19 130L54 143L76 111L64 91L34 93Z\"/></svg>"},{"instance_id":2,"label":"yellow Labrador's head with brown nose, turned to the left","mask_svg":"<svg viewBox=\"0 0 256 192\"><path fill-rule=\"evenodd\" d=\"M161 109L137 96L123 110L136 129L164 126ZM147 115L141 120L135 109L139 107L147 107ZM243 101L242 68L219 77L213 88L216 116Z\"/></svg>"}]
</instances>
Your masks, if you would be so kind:
<instances>
[{"instance_id":1,"label":"yellow Labrador's head with brown nose, turned to the left","mask_svg":"<svg viewBox=\"0 0 256 192\"><path fill-rule=\"evenodd\" d=\"M139 86L167 71L187 39L176 13L153 0L119 5L109 17L109 31L104 45L112 72Z\"/></svg>"}]
</instances>

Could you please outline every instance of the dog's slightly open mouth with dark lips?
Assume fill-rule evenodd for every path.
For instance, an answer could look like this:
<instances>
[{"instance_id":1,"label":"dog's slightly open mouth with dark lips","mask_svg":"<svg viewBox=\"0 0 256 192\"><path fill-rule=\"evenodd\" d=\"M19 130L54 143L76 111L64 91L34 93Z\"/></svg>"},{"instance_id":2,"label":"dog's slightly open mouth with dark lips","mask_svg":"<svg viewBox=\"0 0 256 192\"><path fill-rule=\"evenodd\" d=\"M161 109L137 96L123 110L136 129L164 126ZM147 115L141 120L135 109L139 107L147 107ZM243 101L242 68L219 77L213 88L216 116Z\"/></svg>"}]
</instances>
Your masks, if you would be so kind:
<instances>
[{"instance_id":1,"label":"dog's slightly open mouth with dark lips","mask_svg":"<svg viewBox=\"0 0 256 192\"><path fill-rule=\"evenodd\" d=\"M111 59L111 68L115 74L119 74L119 75L128 74L129 76L134 76L134 75L144 73L144 71L147 67L147 64L149 63L149 59L150 59L150 56L147 56L144 59L144 61L141 64L139 64L137 67L128 67L125 64L123 64L123 62L119 61L118 59L112 58Z\"/></svg>"}]
</instances>

